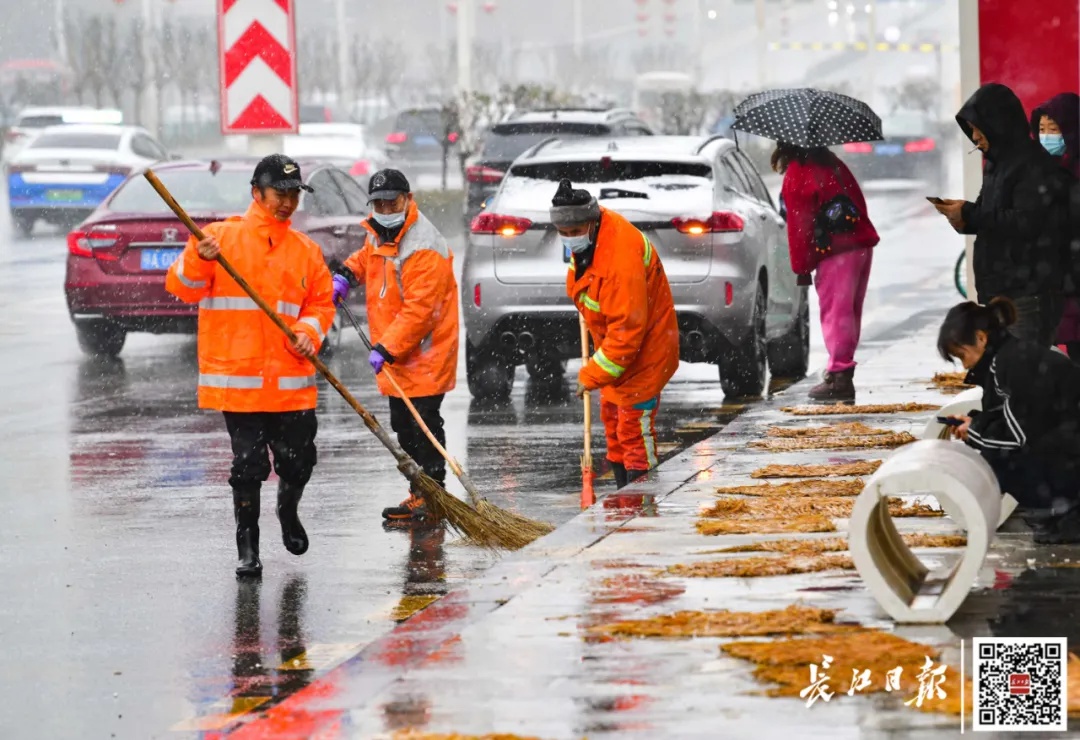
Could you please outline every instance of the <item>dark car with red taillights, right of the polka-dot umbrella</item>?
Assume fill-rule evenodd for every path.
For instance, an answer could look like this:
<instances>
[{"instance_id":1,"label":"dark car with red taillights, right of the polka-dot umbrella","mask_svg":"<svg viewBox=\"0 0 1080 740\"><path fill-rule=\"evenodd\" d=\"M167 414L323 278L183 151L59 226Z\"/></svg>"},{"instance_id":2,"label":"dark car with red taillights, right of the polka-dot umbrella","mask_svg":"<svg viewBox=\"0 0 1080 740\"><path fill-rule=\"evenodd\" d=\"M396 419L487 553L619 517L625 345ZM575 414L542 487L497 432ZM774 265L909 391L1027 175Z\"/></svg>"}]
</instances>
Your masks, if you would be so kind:
<instances>
[{"instance_id":1,"label":"dark car with red taillights, right of the polka-dot umbrella","mask_svg":"<svg viewBox=\"0 0 1080 740\"><path fill-rule=\"evenodd\" d=\"M944 137L937 122L922 113L896 113L882 121L881 130L882 142L843 145L843 161L855 177L924 180L935 193L944 188Z\"/></svg>"}]
</instances>

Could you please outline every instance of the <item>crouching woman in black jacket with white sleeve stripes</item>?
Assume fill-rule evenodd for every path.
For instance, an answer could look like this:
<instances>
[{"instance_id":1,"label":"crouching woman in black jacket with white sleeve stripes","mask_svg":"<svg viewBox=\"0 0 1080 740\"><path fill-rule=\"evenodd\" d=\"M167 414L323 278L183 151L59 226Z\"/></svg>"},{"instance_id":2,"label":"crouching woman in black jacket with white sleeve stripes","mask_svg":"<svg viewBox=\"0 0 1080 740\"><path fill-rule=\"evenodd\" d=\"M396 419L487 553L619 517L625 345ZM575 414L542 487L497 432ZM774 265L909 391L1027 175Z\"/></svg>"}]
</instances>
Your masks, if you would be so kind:
<instances>
[{"instance_id":1,"label":"crouching woman in black jacket with white sleeve stripes","mask_svg":"<svg viewBox=\"0 0 1080 740\"><path fill-rule=\"evenodd\" d=\"M945 317L937 350L983 389L983 409L955 417L954 436L994 469L1025 510L1039 544L1080 542L1080 367L1013 337L1008 298L963 302Z\"/></svg>"}]
</instances>

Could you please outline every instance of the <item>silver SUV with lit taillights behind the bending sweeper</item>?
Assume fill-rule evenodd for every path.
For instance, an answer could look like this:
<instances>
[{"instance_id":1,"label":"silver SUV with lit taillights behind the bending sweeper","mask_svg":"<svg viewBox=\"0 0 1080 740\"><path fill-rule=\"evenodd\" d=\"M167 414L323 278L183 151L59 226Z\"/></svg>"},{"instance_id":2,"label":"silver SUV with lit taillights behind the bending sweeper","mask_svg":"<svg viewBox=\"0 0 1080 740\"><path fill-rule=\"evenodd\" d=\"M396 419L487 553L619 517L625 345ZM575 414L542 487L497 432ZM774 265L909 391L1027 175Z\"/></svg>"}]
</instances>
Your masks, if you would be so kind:
<instances>
[{"instance_id":1,"label":"silver SUV with lit taillights behind the bending sweeper","mask_svg":"<svg viewBox=\"0 0 1080 740\"><path fill-rule=\"evenodd\" d=\"M684 362L719 365L731 396L773 375L806 375L806 288L797 287L783 218L750 160L727 138L551 139L510 167L473 219L462 275L469 390L509 395L514 369L561 377L581 356L566 296L569 255L549 221L564 177L637 226L663 259Z\"/></svg>"}]
</instances>

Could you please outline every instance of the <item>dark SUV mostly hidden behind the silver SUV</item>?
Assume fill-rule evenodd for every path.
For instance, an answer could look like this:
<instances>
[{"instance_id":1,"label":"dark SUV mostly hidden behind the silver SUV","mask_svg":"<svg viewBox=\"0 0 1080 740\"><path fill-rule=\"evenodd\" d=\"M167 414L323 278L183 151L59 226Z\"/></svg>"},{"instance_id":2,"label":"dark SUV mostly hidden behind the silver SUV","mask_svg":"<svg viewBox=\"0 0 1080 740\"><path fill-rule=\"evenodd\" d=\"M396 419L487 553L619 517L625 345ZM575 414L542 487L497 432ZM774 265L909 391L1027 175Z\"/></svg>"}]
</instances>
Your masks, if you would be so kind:
<instances>
[{"instance_id":1,"label":"dark SUV mostly hidden behind the silver SUV","mask_svg":"<svg viewBox=\"0 0 1080 740\"><path fill-rule=\"evenodd\" d=\"M488 129L477 153L465 162L465 223L471 223L484 201L499 189L513 161L545 139L651 135L644 121L618 108L512 113Z\"/></svg>"}]
</instances>

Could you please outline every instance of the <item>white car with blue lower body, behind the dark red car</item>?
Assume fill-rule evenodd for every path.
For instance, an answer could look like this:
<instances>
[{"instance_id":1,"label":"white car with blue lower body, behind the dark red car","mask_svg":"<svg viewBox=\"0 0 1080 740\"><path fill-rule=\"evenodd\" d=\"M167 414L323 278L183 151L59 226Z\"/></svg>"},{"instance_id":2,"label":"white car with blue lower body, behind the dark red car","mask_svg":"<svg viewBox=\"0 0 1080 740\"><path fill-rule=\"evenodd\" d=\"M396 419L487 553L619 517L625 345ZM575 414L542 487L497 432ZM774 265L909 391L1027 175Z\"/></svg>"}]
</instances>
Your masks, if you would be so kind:
<instances>
[{"instance_id":1,"label":"white car with blue lower body, behind the dark red car","mask_svg":"<svg viewBox=\"0 0 1080 740\"><path fill-rule=\"evenodd\" d=\"M23 236L38 219L73 226L130 173L166 159L165 148L139 126L50 126L10 163L12 223Z\"/></svg>"}]
</instances>

